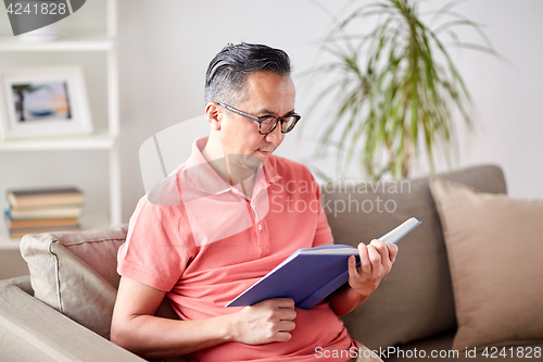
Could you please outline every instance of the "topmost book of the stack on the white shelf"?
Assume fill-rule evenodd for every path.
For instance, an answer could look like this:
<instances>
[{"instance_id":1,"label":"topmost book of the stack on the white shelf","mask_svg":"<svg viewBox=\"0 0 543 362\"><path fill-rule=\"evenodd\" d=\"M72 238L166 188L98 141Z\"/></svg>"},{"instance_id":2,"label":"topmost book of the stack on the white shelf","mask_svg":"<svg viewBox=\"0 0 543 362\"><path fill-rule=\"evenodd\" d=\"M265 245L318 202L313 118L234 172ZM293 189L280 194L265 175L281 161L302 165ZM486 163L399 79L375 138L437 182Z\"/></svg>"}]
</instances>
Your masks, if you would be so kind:
<instances>
[{"instance_id":1,"label":"topmost book of the stack on the white shelf","mask_svg":"<svg viewBox=\"0 0 543 362\"><path fill-rule=\"evenodd\" d=\"M12 208L80 204L83 192L75 187L8 190Z\"/></svg>"}]
</instances>

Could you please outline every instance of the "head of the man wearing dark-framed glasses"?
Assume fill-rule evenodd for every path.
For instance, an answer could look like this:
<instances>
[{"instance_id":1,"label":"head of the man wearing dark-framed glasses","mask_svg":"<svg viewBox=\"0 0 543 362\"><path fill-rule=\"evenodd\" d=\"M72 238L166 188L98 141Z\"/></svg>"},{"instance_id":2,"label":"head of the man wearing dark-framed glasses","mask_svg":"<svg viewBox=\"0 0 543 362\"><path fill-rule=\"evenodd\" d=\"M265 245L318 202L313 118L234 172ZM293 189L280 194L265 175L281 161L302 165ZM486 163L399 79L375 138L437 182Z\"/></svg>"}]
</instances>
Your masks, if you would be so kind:
<instances>
[{"instance_id":1,"label":"head of the man wearing dark-framed glasses","mask_svg":"<svg viewBox=\"0 0 543 362\"><path fill-rule=\"evenodd\" d=\"M290 117L295 99L290 70L285 51L262 45L229 45L211 61L205 78L205 113L211 125L206 159L236 154L252 159L247 161L249 167L266 163L285 138L285 121L295 118ZM275 123L276 128L261 132L265 124L255 118Z\"/></svg>"}]
</instances>

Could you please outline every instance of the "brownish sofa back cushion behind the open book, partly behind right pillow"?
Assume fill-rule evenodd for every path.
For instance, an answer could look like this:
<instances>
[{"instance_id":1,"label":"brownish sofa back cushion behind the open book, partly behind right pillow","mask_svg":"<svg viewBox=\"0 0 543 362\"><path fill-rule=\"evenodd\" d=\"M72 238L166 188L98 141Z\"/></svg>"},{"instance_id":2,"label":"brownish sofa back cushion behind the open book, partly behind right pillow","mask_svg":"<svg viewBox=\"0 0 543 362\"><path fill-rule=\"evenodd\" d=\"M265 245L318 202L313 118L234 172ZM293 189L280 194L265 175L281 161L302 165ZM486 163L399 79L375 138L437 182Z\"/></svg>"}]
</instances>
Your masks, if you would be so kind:
<instances>
[{"instance_id":1,"label":"brownish sofa back cushion behind the open book, partly behind right pillow","mask_svg":"<svg viewBox=\"0 0 543 362\"><path fill-rule=\"evenodd\" d=\"M496 166L470 167L443 177L489 192L506 190ZM377 290L343 317L353 338L370 348L386 348L456 327L445 246L428 178L325 185L323 202L336 244L369 242L412 216L422 222L399 242L394 266Z\"/></svg>"}]
</instances>

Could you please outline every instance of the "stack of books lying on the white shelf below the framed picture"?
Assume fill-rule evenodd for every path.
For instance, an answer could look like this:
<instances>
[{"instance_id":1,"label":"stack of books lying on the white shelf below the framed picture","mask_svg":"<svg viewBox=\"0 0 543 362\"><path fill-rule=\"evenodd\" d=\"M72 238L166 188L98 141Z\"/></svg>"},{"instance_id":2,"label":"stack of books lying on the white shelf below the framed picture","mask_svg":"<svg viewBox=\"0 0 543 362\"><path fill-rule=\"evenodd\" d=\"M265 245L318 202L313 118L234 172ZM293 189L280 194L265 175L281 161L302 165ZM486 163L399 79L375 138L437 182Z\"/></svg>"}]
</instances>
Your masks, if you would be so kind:
<instances>
[{"instance_id":1,"label":"stack of books lying on the white shelf below the framed picture","mask_svg":"<svg viewBox=\"0 0 543 362\"><path fill-rule=\"evenodd\" d=\"M75 187L8 190L5 223L11 238L79 230L83 192Z\"/></svg>"}]
</instances>

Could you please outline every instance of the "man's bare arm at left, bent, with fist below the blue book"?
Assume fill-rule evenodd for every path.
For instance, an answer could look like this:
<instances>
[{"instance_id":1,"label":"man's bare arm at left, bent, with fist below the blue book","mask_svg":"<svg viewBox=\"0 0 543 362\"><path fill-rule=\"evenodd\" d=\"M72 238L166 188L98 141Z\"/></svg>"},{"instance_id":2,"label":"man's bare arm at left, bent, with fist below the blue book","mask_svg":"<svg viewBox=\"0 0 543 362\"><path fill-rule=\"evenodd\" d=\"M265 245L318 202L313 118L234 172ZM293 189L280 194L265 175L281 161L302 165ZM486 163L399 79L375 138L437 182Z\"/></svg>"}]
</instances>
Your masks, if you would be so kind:
<instances>
[{"instance_id":1,"label":"man's bare arm at left, bent, with fist below the blue book","mask_svg":"<svg viewBox=\"0 0 543 362\"><path fill-rule=\"evenodd\" d=\"M174 357L227 341L261 345L289 340L294 302L277 298L239 312L204 320L154 316L165 291L122 277L113 310L111 340L146 358Z\"/></svg>"}]
</instances>

